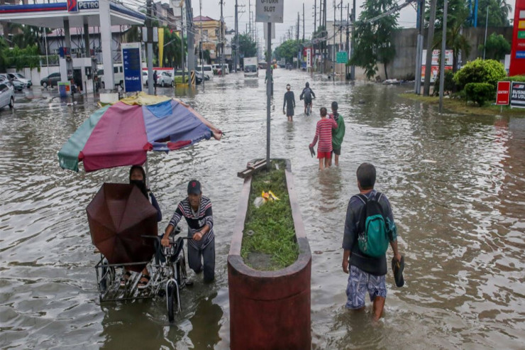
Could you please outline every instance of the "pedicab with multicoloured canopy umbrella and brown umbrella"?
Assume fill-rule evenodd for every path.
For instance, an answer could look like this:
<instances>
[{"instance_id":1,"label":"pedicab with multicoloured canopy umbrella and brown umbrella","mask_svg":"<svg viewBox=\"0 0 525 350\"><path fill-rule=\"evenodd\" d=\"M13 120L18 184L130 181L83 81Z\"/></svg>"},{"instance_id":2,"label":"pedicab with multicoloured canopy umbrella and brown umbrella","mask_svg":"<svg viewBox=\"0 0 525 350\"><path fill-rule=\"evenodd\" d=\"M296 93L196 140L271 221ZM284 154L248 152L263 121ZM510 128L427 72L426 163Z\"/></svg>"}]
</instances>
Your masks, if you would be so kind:
<instances>
[{"instance_id":1,"label":"pedicab with multicoloured canopy umbrella and brown umbrella","mask_svg":"<svg viewBox=\"0 0 525 350\"><path fill-rule=\"evenodd\" d=\"M140 93L95 111L58 152L60 167L92 171L145 164L148 151L169 152L222 132L177 99ZM179 312L179 291L187 284L184 239L179 229L162 247L157 210L135 185L104 183L87 206L92 243L100 253L95 265L100 302L165 297L170 322ZM140 273L121 285L126 271L148 268L147 288L138 288Z\"/></svg>"}]
</instances>

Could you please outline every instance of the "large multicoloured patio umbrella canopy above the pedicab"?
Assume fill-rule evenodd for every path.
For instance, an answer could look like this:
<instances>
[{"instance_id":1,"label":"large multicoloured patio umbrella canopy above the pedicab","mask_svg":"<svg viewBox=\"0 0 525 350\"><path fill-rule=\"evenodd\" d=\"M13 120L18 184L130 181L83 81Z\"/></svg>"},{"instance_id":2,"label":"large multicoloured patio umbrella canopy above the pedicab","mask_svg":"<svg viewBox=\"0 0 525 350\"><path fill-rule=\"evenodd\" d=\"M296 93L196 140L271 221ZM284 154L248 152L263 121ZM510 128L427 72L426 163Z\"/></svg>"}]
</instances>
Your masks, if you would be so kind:
<instances>
[{"instance_id":1,"label":"large multicoloured patio umbrella canopy above the pedicab","mask_svg":"<svg viewBox=\"0 0 525 350\"><path fill-rule=\"evenodd\" d=\"M197 111L168 97L139 94L95 111L58 152L60 166L87 172L143 164L147 151L173 151L222 132Z\"/></svg>"}]
</instances>

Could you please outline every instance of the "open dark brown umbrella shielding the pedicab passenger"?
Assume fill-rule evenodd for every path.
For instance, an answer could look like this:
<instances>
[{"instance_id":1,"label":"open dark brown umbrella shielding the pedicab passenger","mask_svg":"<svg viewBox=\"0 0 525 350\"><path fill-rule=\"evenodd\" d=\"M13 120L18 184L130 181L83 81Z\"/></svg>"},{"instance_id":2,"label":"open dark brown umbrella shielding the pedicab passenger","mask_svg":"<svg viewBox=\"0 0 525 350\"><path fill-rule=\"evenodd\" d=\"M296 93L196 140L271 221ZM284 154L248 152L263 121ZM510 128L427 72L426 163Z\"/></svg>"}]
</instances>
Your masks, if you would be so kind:
<instances>
[{"instance_id":1,"label":"open dark brown umbrella shielding the pedicab passenger","mask_svg":"<svg viewBox=\"0 0 525 350\"><path fill-rule=\"evenodd\" d=\"M94 246L109 263L150 261L157 236L157 209L135 185L104 183L86 208ZM144 266L131 266L139 272Z\"/></svg>"}]
</instances>

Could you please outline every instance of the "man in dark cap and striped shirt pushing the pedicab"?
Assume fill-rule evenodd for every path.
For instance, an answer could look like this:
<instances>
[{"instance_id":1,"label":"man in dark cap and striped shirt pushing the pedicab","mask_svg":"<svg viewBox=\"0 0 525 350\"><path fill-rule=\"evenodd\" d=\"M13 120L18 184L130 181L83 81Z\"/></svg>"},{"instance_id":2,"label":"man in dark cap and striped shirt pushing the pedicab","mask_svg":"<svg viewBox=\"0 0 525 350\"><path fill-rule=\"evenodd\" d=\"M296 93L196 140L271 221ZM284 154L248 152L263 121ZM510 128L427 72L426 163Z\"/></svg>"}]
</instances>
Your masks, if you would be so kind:
<instances>
[{"instance_id":1,"label":"man in dark cap and striped shirt pushing the pedicab","mask_svg":"<svg viewBox=\"0 0 525 350\"><path fill-rule=\"evenodd\" d=\"M186 219L191 238L188 239L188 266L194 273L204 270L204 282L211 282L215 278L214 216L211 201L202 195L201 183L197 180L188 183L188 197L179 202L160 241L162 246L170 246L170 234L182 217Z\"/></svg>"}]
</instances>

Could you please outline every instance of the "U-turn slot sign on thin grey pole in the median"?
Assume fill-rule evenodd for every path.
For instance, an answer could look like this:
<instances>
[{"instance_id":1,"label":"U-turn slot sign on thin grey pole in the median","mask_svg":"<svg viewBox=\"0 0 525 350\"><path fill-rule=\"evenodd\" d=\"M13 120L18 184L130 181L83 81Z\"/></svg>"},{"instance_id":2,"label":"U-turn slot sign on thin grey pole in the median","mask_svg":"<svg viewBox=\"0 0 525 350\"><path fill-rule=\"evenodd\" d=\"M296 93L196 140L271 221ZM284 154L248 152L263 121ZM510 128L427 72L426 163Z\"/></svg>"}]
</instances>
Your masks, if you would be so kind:
<instances>
[{"instance_id":1,"label":"U-turn slot sign on thin grey pole in the median","mask_svg":"<svg viewBox=\"0 0 525 350\"><path fill-rule=\"evenodd\" d=\"M272 89L272 23L282 23L284 0L257 0L255 22L266 23L266 168L270 170L270 97ZM275 34L274 34L275 35Z\"/></svg>"}]
</instances>

